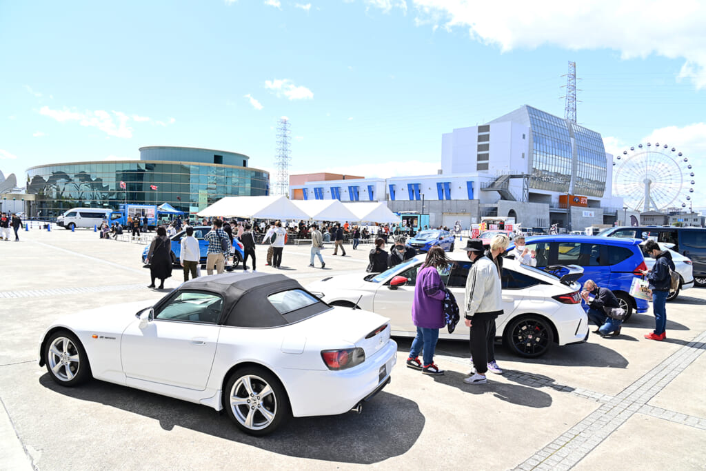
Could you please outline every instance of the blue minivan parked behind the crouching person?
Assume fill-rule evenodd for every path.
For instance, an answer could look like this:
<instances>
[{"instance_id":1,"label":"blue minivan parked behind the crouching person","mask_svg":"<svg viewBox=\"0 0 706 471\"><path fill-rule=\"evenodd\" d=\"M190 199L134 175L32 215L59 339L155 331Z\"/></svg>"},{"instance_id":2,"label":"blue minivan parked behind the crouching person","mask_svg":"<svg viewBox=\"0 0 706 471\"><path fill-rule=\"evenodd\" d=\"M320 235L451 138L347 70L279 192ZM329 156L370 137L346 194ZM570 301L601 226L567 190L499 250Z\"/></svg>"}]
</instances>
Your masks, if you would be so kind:
<instances>
[{"instance_id":1,"label":"blue minivan parked behind the crouching person","mask_svg":"<svg viewBox=\"0 0 706 471\"><path fill-rule=\"evenodd\" d=\"M534 254L537 268L551 270L553 265L578 265L583 276L578 280L594 280L599 287L608 288L618 298L628 314L626 320L637 311L647 312L649 304L644 299L630 296L633 279L647 270L645 257L638 239L615 237L550 235L527 237L525 243L530 254ZM513 246L510 246L513 249Z\"/></svg>"}]
</instances>

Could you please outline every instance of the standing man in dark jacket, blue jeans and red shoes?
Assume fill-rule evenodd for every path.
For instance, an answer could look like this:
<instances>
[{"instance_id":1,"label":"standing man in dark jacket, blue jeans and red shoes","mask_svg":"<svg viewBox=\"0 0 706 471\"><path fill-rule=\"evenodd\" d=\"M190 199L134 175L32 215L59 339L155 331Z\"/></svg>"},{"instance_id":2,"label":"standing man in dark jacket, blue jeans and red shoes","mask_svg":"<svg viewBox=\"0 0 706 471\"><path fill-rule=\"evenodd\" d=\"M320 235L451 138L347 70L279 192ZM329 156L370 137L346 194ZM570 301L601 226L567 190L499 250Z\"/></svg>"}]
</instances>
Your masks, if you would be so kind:
<instances>
[{"instance_id":1,"label":"standing man in dark jacket, blue jeans and red shoes","mask_svg":"<svg viewBox=\"0 0 706 471\"><path fill-rule=\"evenodd\" d=\"M674 270L674 261L667 250L659 249L659 244L654 240L645 242L645 252L652 258L656 258L652 270L642 270L650 282L652 291L652 312L654 313L654 332L645 334L645 338L650 340L664 340L666 338L666 298L669 296L669 285L671 275L669 270Z\"/></svg>"}]
</instances>

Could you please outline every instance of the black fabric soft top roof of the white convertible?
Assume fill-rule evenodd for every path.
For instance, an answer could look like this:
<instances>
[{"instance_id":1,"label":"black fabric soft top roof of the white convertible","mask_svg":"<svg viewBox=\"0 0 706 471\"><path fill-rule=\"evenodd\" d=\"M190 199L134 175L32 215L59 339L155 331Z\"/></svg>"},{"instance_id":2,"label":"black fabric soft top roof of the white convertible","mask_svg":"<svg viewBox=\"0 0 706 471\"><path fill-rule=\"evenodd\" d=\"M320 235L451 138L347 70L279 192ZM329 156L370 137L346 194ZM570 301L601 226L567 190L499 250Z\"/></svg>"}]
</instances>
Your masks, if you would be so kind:
<instances>
[{"instance_id":1,"label":"black fabric soft top roof of the white convertible","mask_svg":"<svg viewBox=\"0 0 706 471\"><path fill-rule=\"evenodd\" d=\"M220 323L234 327L284 326L329 309L323 302L282 316L268 296L286 290L304 290L297 280L266 273L222 273L185 282L179 290L204 290L223 297ZM304 290L306 291L306 290Z\"/></svg>"}]
</instances>

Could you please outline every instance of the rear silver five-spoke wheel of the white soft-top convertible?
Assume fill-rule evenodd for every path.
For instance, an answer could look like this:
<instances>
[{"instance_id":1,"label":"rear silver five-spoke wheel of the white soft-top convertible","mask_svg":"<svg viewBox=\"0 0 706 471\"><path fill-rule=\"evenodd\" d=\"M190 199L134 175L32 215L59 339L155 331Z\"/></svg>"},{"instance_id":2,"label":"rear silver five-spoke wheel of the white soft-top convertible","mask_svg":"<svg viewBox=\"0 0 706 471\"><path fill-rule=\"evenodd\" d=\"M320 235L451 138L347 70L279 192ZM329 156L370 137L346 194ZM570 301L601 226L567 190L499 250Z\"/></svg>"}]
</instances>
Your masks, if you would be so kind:
<instances>
[{"instance_id":1,"label":"rear silver five-spoke wheel of the white soft-top convertible","mask_svg":"<svg viewBox=\"0 0 706 471\"><path fill-rule=\"evenodd\" d=\"M226 390L228 415L246 434L269 434L289 415L285 389L265 369L237 371L229 379Z\"/></svg>"}]
</instances>

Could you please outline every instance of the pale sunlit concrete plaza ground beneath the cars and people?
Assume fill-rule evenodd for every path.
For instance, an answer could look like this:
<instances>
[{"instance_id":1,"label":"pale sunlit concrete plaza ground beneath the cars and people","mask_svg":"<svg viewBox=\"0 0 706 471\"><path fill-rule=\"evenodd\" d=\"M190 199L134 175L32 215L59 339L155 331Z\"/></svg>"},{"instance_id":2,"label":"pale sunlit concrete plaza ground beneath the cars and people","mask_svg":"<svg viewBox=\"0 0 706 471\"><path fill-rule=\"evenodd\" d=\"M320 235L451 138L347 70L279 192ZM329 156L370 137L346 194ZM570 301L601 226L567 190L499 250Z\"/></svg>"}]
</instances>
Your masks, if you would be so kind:
<instances>
[{"instance_id":1,"label":"pale sunlit concrete plaza ground beneath the cars and people","mask_svg":"<svg viewBox=\"0 0 706 471\"><path fill-rule=\"evenodd\" d=\"M191 469L570 469L706 467L706 290L667 304L667 339L642 337L651 314L635 314L619 338L590 335L539 359L497 348L501 376L462 382L466 342L440 341L445 376L407 369L400 345L392 383L363 413L292 419L253 438L225 415L100 381L57 386L37 364L37 342L55 318L108 304L155 302L143 246L104 241L92 230L21 232L0 242L0 470ZM279 273L302 284L363 272L369 246L348 256L287 246ZM258 246L258 269L265 246ZM318 261L316 261L318 266ZM312 385L316 387L316 385Z\"/></svg>"}]
</instances>

